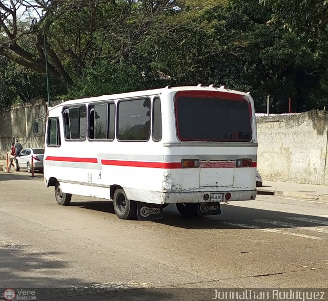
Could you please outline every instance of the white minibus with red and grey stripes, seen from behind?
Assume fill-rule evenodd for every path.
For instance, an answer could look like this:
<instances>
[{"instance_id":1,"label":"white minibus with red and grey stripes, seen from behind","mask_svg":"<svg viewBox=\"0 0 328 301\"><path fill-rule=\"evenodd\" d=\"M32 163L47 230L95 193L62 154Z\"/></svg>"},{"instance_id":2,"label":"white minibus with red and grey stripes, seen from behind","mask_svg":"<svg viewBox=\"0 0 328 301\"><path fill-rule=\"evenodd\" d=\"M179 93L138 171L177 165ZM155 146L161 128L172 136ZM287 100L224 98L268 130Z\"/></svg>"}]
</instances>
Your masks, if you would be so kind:
<instances>
[{"instance_id":1,"label":"white minibus with red and grey stripes, seen from behind","mask_svg":"<svg viewBox=\"0 0 328 301\"><path fill-rule=\"evenodd\" d=\"M166 87L49 107L44 178L59 205L113 200L120 219L220 214L256 197L254 102L225 87Z\"/></svg>"}]
</instances>

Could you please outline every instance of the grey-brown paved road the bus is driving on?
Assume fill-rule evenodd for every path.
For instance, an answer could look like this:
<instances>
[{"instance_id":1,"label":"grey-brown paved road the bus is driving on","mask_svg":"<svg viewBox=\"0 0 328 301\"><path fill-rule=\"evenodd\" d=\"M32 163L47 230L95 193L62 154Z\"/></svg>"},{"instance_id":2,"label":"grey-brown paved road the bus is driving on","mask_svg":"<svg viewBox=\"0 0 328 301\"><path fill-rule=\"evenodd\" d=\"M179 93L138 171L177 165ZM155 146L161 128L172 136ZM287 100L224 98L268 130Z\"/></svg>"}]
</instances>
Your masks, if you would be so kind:
<instances>
[{"instance_id":1,"label":"grey-brown paved road the bus is driving on","mask_svg":"<svg viewBox=\"0 0 328 301\"><path fill-rule=\"evenodd\" d=\"M36 175L0 173L0 288L209 300L213 288L328 287L328 201L257 196L217 217L182 218L170 205L163 220L122 221L108 201L57 205ZM169 288L212 288L211 298Z\"/></svg>"}]
</instances>

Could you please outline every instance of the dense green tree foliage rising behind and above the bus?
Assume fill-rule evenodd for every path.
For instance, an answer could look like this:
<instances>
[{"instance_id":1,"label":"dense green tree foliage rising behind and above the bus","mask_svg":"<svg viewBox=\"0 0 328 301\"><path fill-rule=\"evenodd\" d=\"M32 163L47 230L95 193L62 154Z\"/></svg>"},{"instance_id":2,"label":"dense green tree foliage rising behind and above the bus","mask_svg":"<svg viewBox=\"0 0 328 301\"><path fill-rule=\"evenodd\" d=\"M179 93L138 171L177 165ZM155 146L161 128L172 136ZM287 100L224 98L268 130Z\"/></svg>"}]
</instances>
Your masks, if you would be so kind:
<instances>
[{"instance_id":1,"label":"dense green tree foliage rising behind and above the bus","mask_svg":"<svg viewBox=\"0 0 328 301\"><path fill-rule=\"evenodd\" d=\"M276 112L289 97L295 110L322 109L327 7L322 0L60 1L18 42L42 60L36 35L45 29L50 93L65 99L201 82L250 91L257 111L267 95ZM1 67L0 103L46 97L44 73L8 59Z\"/></svg>"}]
</instances>

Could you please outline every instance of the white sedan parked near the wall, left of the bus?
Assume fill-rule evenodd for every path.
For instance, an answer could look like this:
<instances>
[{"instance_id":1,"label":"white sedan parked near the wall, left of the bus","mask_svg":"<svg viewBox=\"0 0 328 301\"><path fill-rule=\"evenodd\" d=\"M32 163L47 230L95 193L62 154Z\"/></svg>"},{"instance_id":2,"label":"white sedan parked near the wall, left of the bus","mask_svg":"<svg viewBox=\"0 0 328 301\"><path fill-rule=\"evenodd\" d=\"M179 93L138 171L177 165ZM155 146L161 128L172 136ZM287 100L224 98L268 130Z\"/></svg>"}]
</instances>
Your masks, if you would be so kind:
<instances>
[{"instance_id":1,"label":"white sedan parked near the wall, left of the bus","mask_svg":"<svg viewBox=\"0 0 328 301\"><path fill-rule=\"evenodd\" d=\"M43 155L45 153L44 148L25 148L20 152L19 156L16 157L16 171L20 168L27 169L28 173L32 172L32 156L34 170L39 170L43 173Z\"/></svg>"}]
</instances>

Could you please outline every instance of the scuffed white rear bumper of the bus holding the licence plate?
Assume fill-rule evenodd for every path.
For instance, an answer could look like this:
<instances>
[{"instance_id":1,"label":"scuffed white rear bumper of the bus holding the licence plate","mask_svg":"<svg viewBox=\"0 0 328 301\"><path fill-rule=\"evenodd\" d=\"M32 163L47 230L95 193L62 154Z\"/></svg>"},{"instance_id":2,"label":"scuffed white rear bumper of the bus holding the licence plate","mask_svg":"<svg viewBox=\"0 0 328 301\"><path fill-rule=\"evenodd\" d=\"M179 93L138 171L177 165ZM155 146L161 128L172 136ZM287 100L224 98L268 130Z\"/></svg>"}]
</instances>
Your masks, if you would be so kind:
<instances>
[{"instance_id":1,"label":"scuffed white rear bumper of the bus holding the licence plate","mask_svg":"<svg viewBox=\"0 0 328 301\"><path fill-rule=\"evenodd\" d=\"M165 192L163 193L163 204L249 201L255 200L256 192L256 189L240 191ZM231 194L229 200L226 198L227 193Z\"/></svg>"}]
</instances>

